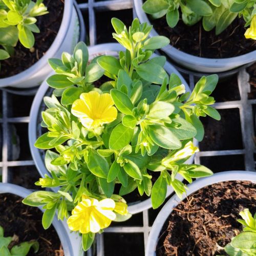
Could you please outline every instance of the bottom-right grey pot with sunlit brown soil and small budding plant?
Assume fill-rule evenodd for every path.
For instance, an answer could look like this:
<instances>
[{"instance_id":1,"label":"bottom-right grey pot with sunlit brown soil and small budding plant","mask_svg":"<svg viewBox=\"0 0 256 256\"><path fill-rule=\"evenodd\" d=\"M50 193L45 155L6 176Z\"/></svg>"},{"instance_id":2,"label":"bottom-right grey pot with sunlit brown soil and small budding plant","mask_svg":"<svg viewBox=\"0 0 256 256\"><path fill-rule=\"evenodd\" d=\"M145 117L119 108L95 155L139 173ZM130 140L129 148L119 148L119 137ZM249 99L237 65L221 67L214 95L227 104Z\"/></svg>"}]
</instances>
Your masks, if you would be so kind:
<instances>
[{"instance_id":1,"label":"bottom-right grey pot with sunlit brown soil and small budding plant","mask_svg":"<svg viewBox=\"0 0 256 256\"><path fill-rule=\"evenodd\" d=\"M246 208L252 215L255 213L255 183L253 172L229 171L189 184L186 196L179 198L174 195L159 212L148 237L145 255L173 252L178 255L223 255L225 252L232 256L254 255L238 253L239 246L246 249L247 236L251 233L245 235L243 248L238 245L238 240L244 235L239 234L242 225L237 219L239 213L245 211L241 214L245 221L239 222L245 226L251 223L252 217ZM233 239L237 235L238 239ZM252 236L255 238L255 234ZM232 249L230 242L237 248Z\"/></svg>"}]
</instances>

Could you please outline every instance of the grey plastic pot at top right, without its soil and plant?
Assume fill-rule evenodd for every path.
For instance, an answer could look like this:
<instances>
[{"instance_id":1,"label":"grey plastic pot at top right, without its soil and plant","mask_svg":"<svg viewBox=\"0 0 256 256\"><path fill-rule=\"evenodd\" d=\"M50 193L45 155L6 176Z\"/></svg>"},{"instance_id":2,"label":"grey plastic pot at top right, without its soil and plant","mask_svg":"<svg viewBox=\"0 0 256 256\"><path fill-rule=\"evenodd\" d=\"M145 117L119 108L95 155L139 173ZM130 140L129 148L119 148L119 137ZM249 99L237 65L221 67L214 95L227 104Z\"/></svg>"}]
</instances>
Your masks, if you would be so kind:
<instances>
[{"instance_id":1,"label":"grey plastic pot at top right, without its soil and plant","mask_svg":"<svg viewBox=\"0 0 256 256\"><path fill-rule=\"evenodd\" d=\"M147 14L142 9L142 4L143 0L134 0L136 14L141 23L146 22L148 24L151 24L150 20L147 17ZM150 36L152 37L157 35L159 34L153 28L150 32ZM201 58L194 55L190 55L188 53L177 50L175 47L171 45L162 48L162 50L179 65L190 70L203 73L224 72L241 67L256 60L256 51L252 51L250 53L243 54L237 57L214 59Z\"/></svg>"}]
</instances>

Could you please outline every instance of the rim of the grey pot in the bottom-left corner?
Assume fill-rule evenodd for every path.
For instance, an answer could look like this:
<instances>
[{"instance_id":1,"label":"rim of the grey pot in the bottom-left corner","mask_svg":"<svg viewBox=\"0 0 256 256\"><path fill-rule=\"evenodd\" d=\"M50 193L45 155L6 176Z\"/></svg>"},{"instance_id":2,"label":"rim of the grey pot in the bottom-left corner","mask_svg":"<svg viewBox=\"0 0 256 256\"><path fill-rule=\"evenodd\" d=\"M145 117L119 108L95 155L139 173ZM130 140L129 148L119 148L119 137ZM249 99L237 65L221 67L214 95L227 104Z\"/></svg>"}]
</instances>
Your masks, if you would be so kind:
<instances>
[{"instance_id":1,"label":"rim of the grey pot in the bottom-left corner","mask_svg":"<svg viewBox=\"0 0 256 256\"><path fill-rule=\"evenodd\" d=\"M0 194L4 194L4 193L10 193L10 194L25 198L28 195L30 195L32 193L32 191L25 187L18 186L15 184L0 183ZM42 212L45 211L41 207L37 207L37 208L39 208ZM79 240L75 241L75 240L71 239L71 237L69 236L69 233L67 232L67 229L65 228L65 226L63 224L64 224L63 222L58 221L56 214L55 214L52 225L54 226L54 229L56 230L56 232L58 234L63 251L64 251L65 255L67 255L67 256L76 256L73 251L73 246L76 246L76 242ZM80 243L80 241L79 241L79 243Z\"/></svg>"}]
</instances>

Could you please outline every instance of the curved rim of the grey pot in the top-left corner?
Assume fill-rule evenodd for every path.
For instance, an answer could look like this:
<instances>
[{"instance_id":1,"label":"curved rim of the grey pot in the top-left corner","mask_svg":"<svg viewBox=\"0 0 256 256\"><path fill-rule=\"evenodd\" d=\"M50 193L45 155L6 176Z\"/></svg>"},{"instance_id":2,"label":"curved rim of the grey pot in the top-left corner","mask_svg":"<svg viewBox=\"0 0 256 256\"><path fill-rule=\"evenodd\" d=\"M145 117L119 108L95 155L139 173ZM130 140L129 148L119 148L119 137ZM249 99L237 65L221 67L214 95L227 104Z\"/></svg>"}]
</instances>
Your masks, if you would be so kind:
<instances>
[{"instance_id":1,"label":"curved rim of the grey pot in the top-left corner","mask_svg":"<svg viewBox=\"0 0 256 256\"><path fill-rule=\"evenodd\" d=\"M6 78L0 78L0 87L8 86L8 84L13 84L14 81L23 80L24 77L30 77L33 76L35 73L35 70L41 69L45 66L45 63L47 63L48 59L53 57L55 53L58 51L60 45L62 44L63 40L65 39L68 28L70 24L70 20L72 17L73 12L73 0L66 0L63 10L63 16L61 20L61 24L59 27L59 31L52 42L52 45L47 50L44 56L42 56L38 61L36 61L31 67L28 69Z\"/></svg>"}]
</instances>

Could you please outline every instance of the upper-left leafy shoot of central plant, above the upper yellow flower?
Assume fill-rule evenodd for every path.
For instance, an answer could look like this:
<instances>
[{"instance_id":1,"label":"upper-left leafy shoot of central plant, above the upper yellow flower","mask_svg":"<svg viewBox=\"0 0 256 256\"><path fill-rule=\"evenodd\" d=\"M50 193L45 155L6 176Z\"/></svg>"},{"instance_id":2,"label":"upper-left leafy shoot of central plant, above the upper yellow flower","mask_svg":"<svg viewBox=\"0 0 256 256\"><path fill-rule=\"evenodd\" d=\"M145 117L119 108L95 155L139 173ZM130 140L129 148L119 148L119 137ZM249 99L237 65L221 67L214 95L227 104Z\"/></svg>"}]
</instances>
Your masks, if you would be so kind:
<instances>
[{"instance_id":1,"label":"upper-left leafy shoot of central plant, above the upper yellow flower","mask_svg":"<svg viewBox=\"0 0 256 256\"><path fill-rule=\"evenodd\" d=\"M49 59L49 65L56 74L50 76L47 83L56 89L56 96L62 96L63 105L72 104L83 92L96 90L93 82L104 74L96 59L89 62L89 53L84 42L78 42L73 55L63 52L61 59Z\"/></svg>"}]
</instances>

